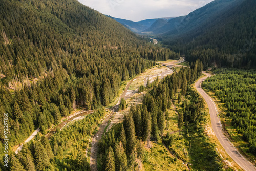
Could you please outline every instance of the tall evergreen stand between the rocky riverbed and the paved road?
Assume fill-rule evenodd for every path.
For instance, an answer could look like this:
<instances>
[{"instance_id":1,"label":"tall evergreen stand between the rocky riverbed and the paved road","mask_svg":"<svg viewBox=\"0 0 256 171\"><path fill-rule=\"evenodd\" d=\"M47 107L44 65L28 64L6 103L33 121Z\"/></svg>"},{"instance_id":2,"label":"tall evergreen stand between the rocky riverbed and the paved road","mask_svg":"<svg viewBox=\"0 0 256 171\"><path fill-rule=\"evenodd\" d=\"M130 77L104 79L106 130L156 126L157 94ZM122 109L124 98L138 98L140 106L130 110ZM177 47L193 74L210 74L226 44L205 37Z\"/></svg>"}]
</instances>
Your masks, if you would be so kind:
<instances>
[{"instance_id":1,"label":"tall evergreen stand between the rocky riverbed and the paved road","mask_svg":"<svg viewBox=\"0 0 256 171\"><path fill-rule=\"evenodd\" d=\"M98 170L136 170L141 162L146 162L148 156L144 151L144 142L158 141L162 138L165 120L168 118L166 110L171 107L172 100L177 96L178 101L181 97L189 99L189 102L184 100L186 102L182 104L183 110L179 115L178 126L180 129L185 126L187 134L192 132L191 143L193 140L198 140L193 144L195 143L194 146L199 144L201 147L197 151L191 150L196 156L194 168L219 170L221 165L217 162L218 154L215 147L204 141L203 127L199 126L205 115L201 112L204 106L203 99L190 87L190 84L201 76L202 69L203 66L199 61L191 68L183 67L177 74L167 76L158 86L153 87L143 97L142 105L132 105L123 123L114 126L100 140ZM195 130L199 131L196 136L194 136ZM163 137L163 142L172 149L175 139L167 134ZM205 152L205 155L202 155L202 152ZM207 166L204 164L203 167L197 167L200 163L207 163Z\"/></svg>"}]
</instances>

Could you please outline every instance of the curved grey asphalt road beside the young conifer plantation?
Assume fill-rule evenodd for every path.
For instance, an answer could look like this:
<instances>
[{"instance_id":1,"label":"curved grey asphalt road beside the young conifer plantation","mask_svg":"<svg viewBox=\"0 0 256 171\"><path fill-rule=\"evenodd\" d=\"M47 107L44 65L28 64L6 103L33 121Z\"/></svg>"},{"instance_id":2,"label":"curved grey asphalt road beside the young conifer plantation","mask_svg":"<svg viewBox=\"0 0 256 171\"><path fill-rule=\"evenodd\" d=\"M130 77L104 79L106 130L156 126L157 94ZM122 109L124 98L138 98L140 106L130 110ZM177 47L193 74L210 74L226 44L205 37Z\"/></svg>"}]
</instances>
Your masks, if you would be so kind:
<instances>
[{"instance_id":1,"label":"curved grey asphalt road beside the young conifer plantation","mask_svg":"<svg viewBox=\"0 0 256 171\"><path fill-rule=\"evenodd\" d=\"M228 138L223 134L222 132L222 125L221 122L217 116L218 110L216 108L216 105L214 101L210 98L208 94L201 88L201 83L207 78L210 77L211 75L208 73L204 73L207 76L199 79L196 82L196 89L197 91L203 96L205 99L209 112L210 112L210 120L211 120L211 125L212 129L214 130L214 133L216 134L218 140L220 141L221 145L227 152L227 154L244 170L250 171L250 170L256 170L256 167L254 167L248 160L246 160L232 145L232 143L228 140Z\"/></svg>"}]
</instances>

